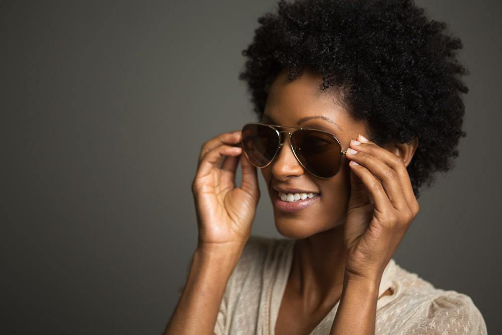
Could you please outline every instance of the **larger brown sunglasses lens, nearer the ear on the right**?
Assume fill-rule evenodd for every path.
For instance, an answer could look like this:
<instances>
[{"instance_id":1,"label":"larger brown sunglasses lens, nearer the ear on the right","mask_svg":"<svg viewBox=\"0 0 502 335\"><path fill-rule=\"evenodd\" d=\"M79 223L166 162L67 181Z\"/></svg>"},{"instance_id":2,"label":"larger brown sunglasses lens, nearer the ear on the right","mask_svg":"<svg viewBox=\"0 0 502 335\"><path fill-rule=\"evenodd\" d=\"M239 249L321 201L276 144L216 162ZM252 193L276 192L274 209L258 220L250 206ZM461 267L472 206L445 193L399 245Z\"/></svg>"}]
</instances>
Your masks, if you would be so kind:
<instances>
[{"instance_id":1,"label":"larger brown sunglasses lens, nearer the ear on the right","mask_svg":"<svg viewBox=\"0 0 502 335\"><path fill-rule=\"evenodd\" d=\"M330 135L312 130L299 130L293 133L291 142L296 156L312 174L329 178L338 172L341 148L338 141Z\"/></svg>"}]
</instances>

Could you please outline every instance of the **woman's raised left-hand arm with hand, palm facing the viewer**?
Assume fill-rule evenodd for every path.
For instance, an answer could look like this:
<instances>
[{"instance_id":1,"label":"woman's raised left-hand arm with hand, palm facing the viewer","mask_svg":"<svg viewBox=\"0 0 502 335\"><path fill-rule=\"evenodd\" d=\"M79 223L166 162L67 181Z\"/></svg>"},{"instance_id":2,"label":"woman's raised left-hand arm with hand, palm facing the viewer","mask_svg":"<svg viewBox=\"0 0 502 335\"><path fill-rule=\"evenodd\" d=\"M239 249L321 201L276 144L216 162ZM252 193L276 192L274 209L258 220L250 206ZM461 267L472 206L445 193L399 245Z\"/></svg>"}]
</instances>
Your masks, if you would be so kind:
<instances>
[{"instance_id":1,"label":"woman's raised left-hand arm with hand, palm facing the viewer","mask_svg":"<svg viewBox=\"0 0 502 335\"><path fill-rule=\"evenodd\" d=\"M212 334L226 284L250 236L260 199L257 168L240 142L241 131L202 145L192 182L198 244L187 282L164 334ZM240 161L242 181L235 185Z\"/></svg>"}]
</instances>

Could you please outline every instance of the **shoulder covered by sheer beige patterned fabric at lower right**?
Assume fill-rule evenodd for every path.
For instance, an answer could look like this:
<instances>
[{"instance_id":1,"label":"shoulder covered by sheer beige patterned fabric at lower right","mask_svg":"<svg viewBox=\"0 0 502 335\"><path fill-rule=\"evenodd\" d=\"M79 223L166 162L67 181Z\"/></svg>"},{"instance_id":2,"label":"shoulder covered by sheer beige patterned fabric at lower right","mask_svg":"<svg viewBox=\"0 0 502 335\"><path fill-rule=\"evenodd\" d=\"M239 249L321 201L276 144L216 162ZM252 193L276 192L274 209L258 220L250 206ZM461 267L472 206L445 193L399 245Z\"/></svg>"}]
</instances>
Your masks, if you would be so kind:
<instances>
[{"instance_id":1,"label":"shoulder covered by sheer beige patterned fabric at lower right","mask_svg":"<svg viewBox=\"0 0 502 335\"><path fill-rule=\"evenodd\" d=\"M470 296L436 288L398 265L395 280L401 290L400 308L412 307L405 313L399 333L487 333L484 318Z\"/></svg>"}]
</instances>

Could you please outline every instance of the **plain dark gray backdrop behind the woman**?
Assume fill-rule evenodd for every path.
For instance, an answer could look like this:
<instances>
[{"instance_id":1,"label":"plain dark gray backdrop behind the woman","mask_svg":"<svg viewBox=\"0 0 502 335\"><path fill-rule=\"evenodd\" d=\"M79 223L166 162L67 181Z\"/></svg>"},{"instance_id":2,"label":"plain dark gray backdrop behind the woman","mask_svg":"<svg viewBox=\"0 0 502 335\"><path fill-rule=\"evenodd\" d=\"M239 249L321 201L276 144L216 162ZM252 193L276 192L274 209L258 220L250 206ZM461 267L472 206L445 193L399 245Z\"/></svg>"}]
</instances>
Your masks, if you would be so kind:
<instances>
[{"instance_id":1,"label":"plain dark gray backdrop behind the woman","mask_svg":"<svg viewBox=\"0 0 502 335\"><path fill-rule=\"evenodd\" d=\"M418 4L464 43L468 135L395 259L502 333L502 3ZM200 146L255 120L240 51L274 6L2 2L0 333L163 331L196 246ZM253 234L281 237L268 196Z\"/></svg>"}]
</instances>

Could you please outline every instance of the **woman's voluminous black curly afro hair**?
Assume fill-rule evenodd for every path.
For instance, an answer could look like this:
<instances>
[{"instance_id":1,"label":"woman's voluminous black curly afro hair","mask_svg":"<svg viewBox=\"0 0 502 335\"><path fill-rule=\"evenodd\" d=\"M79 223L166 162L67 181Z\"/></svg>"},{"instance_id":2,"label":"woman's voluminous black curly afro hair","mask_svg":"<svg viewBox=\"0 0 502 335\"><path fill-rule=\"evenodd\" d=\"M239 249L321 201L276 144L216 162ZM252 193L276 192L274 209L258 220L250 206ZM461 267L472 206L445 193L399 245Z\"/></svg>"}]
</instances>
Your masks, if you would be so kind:
<instances>
[{"instance_id":1,"label":"woman's voluminous black curly afro hair","mask_svg":"<svg viewBox=\"0 0 502 335\"><path fill-rule=\"evenodd\" d=\"M367 121L375 142L419 146L407 167L415 196L458 156L468 74L462 49L444 22L429 20L413 0L280 0L258 19L239 79L246 81L261 120L275 78L305 67L323 75L320 89L343 87L350 115Z\"/></svg>"}]
</instances>

